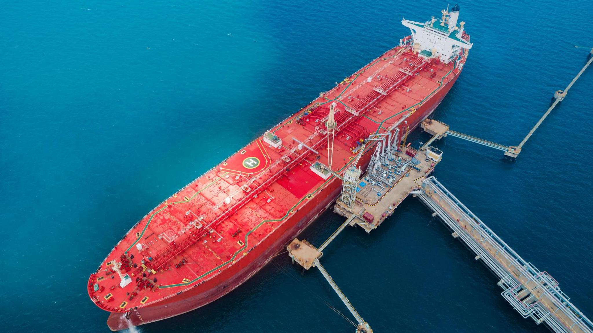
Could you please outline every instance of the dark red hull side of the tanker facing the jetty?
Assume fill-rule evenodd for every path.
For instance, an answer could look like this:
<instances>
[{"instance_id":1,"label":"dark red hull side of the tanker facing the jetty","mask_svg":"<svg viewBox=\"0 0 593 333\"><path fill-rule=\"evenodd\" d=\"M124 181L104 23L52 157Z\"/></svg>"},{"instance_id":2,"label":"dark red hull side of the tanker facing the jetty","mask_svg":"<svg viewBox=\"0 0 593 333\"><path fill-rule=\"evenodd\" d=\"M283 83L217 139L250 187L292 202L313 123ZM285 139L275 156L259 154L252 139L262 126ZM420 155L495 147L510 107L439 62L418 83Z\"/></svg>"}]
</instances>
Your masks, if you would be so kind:
<instances>
[{"instance_id":1,"label":"dark red hull side of the tanker facing the jetty","mask_svg":"<svg viewBox=\"0 0 593 333\"><path fill-rule=\"evenodd\" d=\"M441 89L438 89L426 103L421 105L408 118L410 130L415 129L422 120L432 114L455 81L457 81L460 73L454 75L451 81L446 82ZM359 165L363 170L368 166L370 158L371 153L366 152L359 161ZM154 305L130 309L127 319L126 313L111 313L109 319L107 319L107 325L112 331L118 331L132 326L160 321L205 306L231 292L262 269L267 262L272 260L275 254L282 251L286 244L297 237L302 230L307 228L321 213L329 208L339 196L341 185L340 179L334 177L323 188L322 193L311 198L304 207L291 214L272 234L247 252L241 261L222 271L215 278L204 281L199 288L193 288L167 297Z\"/></svg>"}]
</instances>

